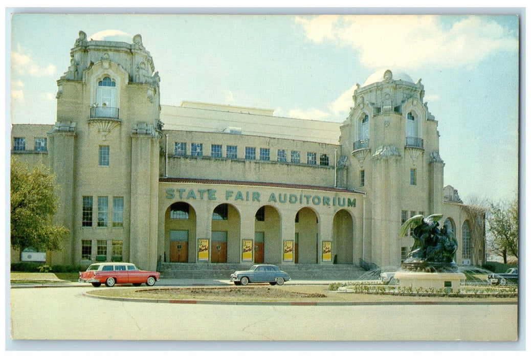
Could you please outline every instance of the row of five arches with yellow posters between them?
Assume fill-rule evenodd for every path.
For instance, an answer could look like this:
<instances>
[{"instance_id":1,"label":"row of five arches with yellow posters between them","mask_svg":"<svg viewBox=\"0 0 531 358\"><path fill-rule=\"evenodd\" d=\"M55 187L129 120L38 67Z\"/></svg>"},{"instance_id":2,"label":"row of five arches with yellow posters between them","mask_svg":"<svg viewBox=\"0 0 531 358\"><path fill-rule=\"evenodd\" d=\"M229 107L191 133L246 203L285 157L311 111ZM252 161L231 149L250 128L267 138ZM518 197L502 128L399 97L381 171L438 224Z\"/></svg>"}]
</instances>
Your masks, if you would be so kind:
<instances>
[{"instance_id":1,"label":"row of five arches with yellow posters between them","mask_svg":"<svg viewBox=\"0 0 531 358\"><path fill-rule=\"evenodd\" d=\"M175 201L167 207L164 216L165 262L211 263L320 263L353 264L357 257L354 248L356 224L353 214L339 209L333 214L331 233L327 241L320 241L324 230L317 211L302 207L282 217L271 205L264 205L254 213L243 214L230 203L218 204L210 211L210 236L200 237L199 208L186 201ZM251 216L252 215L252 216ZM284 216L288 216L284 214ZM203 216L204 217L204 216ZM282 223L290 220L291 224ZM254 235L242 232L242 226L254 229ZM254 227L250 227L253 223ZM294 235L282 234L282 228L294 230ZM249 232L249 230L247 231ZM205 236L205 235L203 235Z\"/></svg>"}]
</instances>

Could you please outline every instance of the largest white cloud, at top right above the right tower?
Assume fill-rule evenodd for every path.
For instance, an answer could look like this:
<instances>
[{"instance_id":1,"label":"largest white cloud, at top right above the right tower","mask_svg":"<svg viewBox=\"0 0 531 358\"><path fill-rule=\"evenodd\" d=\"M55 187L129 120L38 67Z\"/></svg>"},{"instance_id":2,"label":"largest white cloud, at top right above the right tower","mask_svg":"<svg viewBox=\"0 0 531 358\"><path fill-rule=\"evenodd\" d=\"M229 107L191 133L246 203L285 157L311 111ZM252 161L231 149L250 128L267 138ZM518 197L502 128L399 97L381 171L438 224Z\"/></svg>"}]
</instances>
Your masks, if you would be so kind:
<instances>
[{"instance_id":1,"label":"largest white cloud, at top right above the right tower","mask_svg":"<svg viewBox=\"0 0 531 358\"><path fill-rule=\"evenodd\" d=\"M436 15L319 15L296 18L306 37L329 39L359 52L367 67L476 65L499 50L518 51L518 39L482 16L444 27Z\"/></svg>"}]
</instances>

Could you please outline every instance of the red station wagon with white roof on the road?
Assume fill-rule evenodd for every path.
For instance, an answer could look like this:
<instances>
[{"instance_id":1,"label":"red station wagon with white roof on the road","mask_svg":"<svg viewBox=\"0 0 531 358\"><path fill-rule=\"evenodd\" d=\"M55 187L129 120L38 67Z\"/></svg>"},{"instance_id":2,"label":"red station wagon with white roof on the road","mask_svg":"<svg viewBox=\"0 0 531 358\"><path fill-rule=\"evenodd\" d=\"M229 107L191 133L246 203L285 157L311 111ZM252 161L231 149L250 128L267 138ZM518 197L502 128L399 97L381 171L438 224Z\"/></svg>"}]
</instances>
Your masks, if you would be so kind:
<instances>
[{"instance_id":1,"label":"red station wagon with white roof on the road","mask_svg":"<svg viewBox=\"0 0 531 358\"><path fill-rule=\"evenodd\" d=\"M153 286L159 276L159 272L139 270L133 263L101 262L93 263L87 271L79 272L79 282L90 282L94 287L99 287L101 284L108 287L113 287L115 284L140 286L143 283Z\"/></svg>"}]
</instances>

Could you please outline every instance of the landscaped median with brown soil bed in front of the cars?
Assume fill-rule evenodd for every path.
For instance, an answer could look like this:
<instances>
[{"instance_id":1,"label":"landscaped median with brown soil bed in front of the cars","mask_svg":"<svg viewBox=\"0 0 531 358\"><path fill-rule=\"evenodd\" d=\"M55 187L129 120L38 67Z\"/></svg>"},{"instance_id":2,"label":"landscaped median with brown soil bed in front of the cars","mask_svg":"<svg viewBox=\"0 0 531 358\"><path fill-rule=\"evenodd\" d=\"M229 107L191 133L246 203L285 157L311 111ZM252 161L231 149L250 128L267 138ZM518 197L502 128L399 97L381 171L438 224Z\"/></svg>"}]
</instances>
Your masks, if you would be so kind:
<instances>
[{"instance_id":1,"label":"landscaped median with brown soil bed in front of the cars","mask_svg":"<svg viewBox=\"0 0 531 358\"><path fill-rule=\"evenodd\" d=\"M329 285L253 285L247 287L113 287L85 293L90 297L135 302L184 304L516 304L515 297L452 297L418 295L378 295L329 291Z\"/></svg>"}]
</instances>

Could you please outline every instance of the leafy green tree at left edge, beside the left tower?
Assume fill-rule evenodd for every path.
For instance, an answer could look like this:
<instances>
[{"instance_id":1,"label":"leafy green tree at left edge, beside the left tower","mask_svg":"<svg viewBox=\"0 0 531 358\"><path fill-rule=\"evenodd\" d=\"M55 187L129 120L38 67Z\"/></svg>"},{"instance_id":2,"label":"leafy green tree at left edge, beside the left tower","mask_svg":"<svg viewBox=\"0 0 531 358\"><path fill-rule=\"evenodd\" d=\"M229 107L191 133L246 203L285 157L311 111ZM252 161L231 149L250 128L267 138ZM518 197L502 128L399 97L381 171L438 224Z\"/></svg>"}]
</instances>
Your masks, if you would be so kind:
<instances>
[{"instance_id":1,"label":"leafy green tree at left edge, beside the left tower","mask_svg":"<svg viewBox=\"0 0 531 358\"><path fill-rule=\"evenodd\" d=\"M59 243L68 229L53 224L57 211L56 183L44 168L11 159L11 246L23 250L60 251Z\"/></svg>"}]
</instances>

